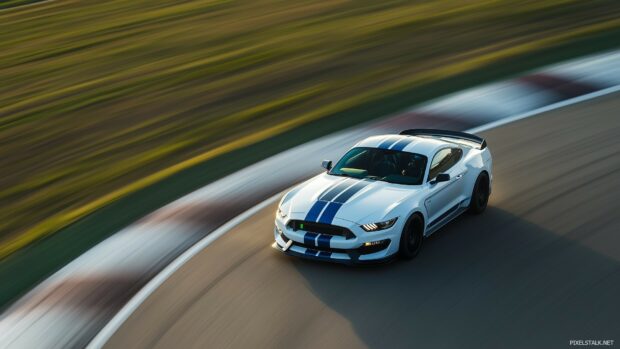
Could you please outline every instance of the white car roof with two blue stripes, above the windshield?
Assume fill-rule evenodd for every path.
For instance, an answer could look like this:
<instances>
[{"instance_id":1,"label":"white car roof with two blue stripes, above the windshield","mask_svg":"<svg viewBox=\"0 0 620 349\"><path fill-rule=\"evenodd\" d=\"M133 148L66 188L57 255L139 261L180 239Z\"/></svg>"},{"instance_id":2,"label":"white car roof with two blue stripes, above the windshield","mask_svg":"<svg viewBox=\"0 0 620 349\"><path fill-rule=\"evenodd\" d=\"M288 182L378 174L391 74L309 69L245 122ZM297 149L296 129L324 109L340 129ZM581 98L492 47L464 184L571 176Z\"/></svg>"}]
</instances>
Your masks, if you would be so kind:
<instances>
[{"instance_id":1,"label":"white car roof with two blue stripes, above the windshield","mask_svg":"<svg viewBox=\"0 0 620 349\"><path fill-rule=\"evenodd\" d=\"M357 143L355 147L394 149L431 157L437 150L447 145L460 147L459 144L436 137L394 134L368 137Z\"/></svg>"}]
</instances>

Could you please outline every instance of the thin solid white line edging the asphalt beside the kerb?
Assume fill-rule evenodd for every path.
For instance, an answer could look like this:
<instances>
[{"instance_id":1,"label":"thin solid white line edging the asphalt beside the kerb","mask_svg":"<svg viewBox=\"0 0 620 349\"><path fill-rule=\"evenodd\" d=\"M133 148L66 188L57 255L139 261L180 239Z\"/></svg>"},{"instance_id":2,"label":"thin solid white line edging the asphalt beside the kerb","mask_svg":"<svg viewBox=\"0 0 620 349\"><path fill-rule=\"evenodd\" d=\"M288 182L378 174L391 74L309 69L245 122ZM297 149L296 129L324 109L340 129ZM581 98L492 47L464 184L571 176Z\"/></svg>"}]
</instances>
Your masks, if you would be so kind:
<instances>
[{"instance_id":1,"label":"thin solid white line edging the asphalt beside the kerb","mask_svg":"<svg viewBox=\"0 0 620 349\"><path fill-rule=\"evenodd\" d=\"M595 99L598 97L602 97L614 92L620 91L620 85L608 87L599 91L591 92L585 95L581 95L578 97L573 97L570 99L566 99L560 102L552 103L547 106L534 109L532 111L518 114L512 117L500 119L497 121L493 121L482 126L471 128L465 132L469 133L477 133L490 130L492 128L496 128L499 126L503 126L505 124L515 122L521 119L525 119L531 116L539 115L551 110L560 109L563 107L567 107L573 104L585 102L591 99ZM260 210L274 203L282 193L278 193L267 200L257 204L256 206L248 209L242 214L236 216L232 220L228 221L226 224L222 225L211 234L204 237L202 240L198 241L194 244L190 249L185 251L179 257L177 257L172 263L166 266L161 272L159 272L153 279L151 279L138 293L136 293L130 300L121 308L121 310L114 315L114 317L108 322L104 328L93 338L93 340L88 344L88 349L99 349L103 348L103 346L112 338L112 335L116 333L116 331L121 327L121 325L133 314L133 312L138 309L138 307L146 301L146 299L155 292L172 274L174 274L177 270L179 270L185 263L187 263L190 259L192 259L195 255L197 255L204 248L209 246L213 241L217 240L222 235L226 234L228 231L239 225L241 222L250 218L251 216L258 213Z\"/></svg>"}]
</instances>

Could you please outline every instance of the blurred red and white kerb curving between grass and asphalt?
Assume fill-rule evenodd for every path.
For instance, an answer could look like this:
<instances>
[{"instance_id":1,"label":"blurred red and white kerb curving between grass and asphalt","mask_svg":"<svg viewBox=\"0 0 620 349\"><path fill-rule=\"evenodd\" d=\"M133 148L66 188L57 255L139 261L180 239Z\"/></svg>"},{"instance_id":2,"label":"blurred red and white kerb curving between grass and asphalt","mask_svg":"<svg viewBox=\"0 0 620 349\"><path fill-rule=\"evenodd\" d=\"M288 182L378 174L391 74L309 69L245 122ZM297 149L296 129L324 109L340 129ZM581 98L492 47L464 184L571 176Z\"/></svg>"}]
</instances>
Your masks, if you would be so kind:
<instances>
[{"instance_id":1,"label":"blurred red and white kerb curving between grass and asphalt","mask_svg":"<svg viewBox=\"0 0 620 349\"><path fill-rule=\"evenodd\" d=\"M87 346L184 251L266 198L318 173L320 160L337 159L359 139L412 127L472 129L618 86L620 51L598 54L455 93L263 160L142 218L37 286L0 318L0 348Z\"/></svg>"}]
</instances>

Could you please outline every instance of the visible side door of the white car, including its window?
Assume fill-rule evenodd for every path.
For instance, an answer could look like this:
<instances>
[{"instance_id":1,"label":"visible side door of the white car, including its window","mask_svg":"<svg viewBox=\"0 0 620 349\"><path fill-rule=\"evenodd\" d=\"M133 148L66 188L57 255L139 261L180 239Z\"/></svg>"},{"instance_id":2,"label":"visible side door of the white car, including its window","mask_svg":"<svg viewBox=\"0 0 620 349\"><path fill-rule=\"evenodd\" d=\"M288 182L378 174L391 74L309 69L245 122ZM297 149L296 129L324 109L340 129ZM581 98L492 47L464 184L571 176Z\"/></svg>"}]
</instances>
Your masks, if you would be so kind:
<instances>
[{"instance_id":1,"label":"visible side door of the white car, including its window","mask_svg":"<svg viewBox=\"0 0 620 349\"><path fill-rule=\"evenodd\" d=\"M428 196L424 205L428 214L428 225L438 223L451 212L458 209L462 200L466 167L461 161L463 150L458 147L443 148L437 151L431 161L425 186ZM447 182L432 183L440 173L450 175Z\"/></svg>"}]
</instances>

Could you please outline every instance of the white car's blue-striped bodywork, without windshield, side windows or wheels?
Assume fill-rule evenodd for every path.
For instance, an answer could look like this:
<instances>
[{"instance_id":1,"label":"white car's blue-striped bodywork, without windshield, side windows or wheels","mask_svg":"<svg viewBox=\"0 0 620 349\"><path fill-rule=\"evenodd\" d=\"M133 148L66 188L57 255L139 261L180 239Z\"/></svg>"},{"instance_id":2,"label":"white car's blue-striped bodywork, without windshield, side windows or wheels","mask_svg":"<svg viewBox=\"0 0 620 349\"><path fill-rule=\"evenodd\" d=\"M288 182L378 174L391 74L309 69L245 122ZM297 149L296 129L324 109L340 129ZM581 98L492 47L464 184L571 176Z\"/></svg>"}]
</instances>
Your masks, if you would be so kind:
<instances>
[{"instance_id":1,"label":"white car's blue-striped bodywork, without windshield, side windows or wheels","mask_svg":"<svg viewBox=\"0 0 620 349\"><path fill-rule=\"evenodd\" d=\"M490 195L492 158L484 140L453 131L403 131L407 132L413 135L373 136L351 149L397 148L423 155L428 161L421 184L334 176L329 171L321 173L284 195L276 213L272 246L290 255L342 263L386 260L397 255L401 233L413 214L423 217L423 236L428 237L469 208L481 173L488 176ZM435 183L428 178L433 159L438 153L445 156L448 152L462 152L462 155L441 171L449 175L449 180ZM366 231L362 228L394 218L396 222L387 229ZM373 249L372 244L378 246L378 241L383 241L381 248Z\"/></svg>"}]
</instances>

